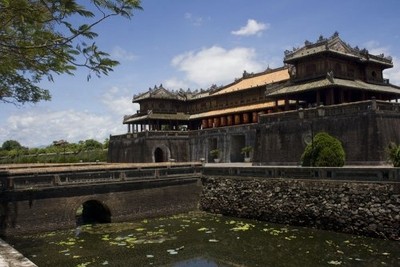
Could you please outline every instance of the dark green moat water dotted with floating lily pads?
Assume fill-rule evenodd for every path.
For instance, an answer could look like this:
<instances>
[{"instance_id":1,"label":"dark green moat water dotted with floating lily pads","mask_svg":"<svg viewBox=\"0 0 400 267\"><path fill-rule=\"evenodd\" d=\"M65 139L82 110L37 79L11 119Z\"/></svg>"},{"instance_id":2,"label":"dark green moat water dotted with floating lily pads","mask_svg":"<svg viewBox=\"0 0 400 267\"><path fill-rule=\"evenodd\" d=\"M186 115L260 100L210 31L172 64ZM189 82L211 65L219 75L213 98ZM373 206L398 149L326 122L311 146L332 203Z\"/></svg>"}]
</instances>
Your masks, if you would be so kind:
<instances>
[{"instance_id":1,"label":"dark green moat water dotted with floating lily pads","mask_svg":"<svg viewBox=\"0 0 400 267\"><path fill-rule=\"evenodd\" d=\"M398 266L400 243L190 212L8 237L38 266Z\"/></svg>"}]
</instances>

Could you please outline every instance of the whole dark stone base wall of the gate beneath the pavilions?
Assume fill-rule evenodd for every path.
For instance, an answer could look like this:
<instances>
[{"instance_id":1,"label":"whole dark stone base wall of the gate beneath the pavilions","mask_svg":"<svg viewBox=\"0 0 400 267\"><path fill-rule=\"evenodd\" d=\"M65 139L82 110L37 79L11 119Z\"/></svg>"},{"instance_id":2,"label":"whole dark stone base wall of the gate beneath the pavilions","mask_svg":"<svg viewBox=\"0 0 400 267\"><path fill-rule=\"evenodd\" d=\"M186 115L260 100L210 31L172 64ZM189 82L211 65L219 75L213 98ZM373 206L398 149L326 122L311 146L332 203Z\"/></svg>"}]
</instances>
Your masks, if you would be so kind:
<instances>
[{"instance_id":1,"label":"whole dark stone base wall of the gate beneath the pavilions","mask_svg":"<svg viewBox=\"0 0 400 267\"><path fill-rule=\"evenodd\" d=\"M264 114L252 124L128 133L110 137L108 161L155 162L160 148L164 161L212 162L209 152L218 148L221 162L243 162L241 148L252 146L256 165L299 165L312 137L327 132L342 142L346 165L384 165L388 145L400 143L399 111L399 103L371 100Z\"/></svg>"}]
</instances>

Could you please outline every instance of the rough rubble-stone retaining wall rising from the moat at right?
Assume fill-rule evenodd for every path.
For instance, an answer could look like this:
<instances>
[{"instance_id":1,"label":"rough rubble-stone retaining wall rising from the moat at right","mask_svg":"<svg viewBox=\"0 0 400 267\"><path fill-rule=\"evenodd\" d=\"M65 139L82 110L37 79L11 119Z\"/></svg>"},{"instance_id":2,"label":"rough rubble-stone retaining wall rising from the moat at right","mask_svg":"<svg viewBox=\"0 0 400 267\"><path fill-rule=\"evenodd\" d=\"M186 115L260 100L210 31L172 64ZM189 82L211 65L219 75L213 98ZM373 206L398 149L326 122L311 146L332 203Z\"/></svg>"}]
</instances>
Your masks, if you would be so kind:
<instances>
[{"instance_id":1,"label":"rough rubble-stone retaining wall rising from the moat at right","mask_svg":"<svg viewBox=\"0 0 400 267\"><path fill-rule=\"evenodd\" d=\"M203 177L200 208L224 215L399 240L400 184Z\"/></svg>"}]
</instances>

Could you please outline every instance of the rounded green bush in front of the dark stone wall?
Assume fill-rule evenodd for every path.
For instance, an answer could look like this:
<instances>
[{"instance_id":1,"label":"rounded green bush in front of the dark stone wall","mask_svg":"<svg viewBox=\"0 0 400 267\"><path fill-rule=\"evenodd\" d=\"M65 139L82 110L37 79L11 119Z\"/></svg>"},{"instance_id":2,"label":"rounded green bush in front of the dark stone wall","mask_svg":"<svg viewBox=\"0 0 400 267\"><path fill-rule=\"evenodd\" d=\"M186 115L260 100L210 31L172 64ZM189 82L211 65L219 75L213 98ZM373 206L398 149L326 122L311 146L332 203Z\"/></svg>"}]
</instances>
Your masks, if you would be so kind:
<instances>
[{"instance_id":1,"label":"rounded green bush in front of the dark stone wall","mask_svg":"<svg viewBox=\"0 0 400 267\"><path fill-rule=\"evenodd\" d=\"M335 137L321 132L304 150L301 156L302 166L341 167L345 162L342 143Z\"/></svg>"}]
</instances>

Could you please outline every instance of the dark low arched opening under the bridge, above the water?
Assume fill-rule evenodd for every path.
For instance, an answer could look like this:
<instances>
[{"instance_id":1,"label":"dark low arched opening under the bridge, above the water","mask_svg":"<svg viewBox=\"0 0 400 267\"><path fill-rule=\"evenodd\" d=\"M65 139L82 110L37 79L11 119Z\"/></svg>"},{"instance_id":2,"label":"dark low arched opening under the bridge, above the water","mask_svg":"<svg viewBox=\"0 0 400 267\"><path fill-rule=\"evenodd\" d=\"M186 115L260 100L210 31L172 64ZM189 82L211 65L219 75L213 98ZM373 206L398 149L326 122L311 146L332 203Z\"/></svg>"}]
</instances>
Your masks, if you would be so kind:
<instances>
[{"instance_id":1,"label":"dark low arched opening under the bridge, above the water","mask_svg":"<svg viewBox=\"0 0 400 267\"><path fill-rule=\"evenodd\" d=\"M110 223L110 209L97 200L84 202L76 212L76 224Z\"/></svg>"}]
</instances>

